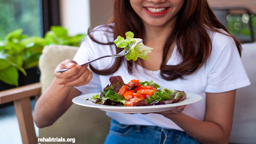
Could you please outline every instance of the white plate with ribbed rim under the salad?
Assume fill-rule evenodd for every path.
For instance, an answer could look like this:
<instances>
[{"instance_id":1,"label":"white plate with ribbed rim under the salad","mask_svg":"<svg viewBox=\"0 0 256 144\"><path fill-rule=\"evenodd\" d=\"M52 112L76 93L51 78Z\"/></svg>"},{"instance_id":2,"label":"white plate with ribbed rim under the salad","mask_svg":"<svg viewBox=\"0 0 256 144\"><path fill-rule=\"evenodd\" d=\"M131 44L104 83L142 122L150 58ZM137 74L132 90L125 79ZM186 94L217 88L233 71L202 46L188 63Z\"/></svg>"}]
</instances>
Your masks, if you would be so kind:
<instances>
[{"instance_id":1,"label":"white plate with ribbed rim under the salad","mask_svg":"<svg viewBox=\"0 0 256 144\"><path fill-rule=\"evenodd\" d=\"M181 102L176 102L173 104L156 105L156 106L106 106L102 104L95 104L90 100L86 100L96 94L100 94L100 93L92 93L92 94L77 96L76 98L73 98L72 102L80 106L99 108L100 110L104 110L107 112L148 113L148 112L161 112L165 110L171 110L177 106L192 104L202 100L202 96L198 94L193 94L193 93L186 93L187 98Z\"/></svg>"}]
</instances>

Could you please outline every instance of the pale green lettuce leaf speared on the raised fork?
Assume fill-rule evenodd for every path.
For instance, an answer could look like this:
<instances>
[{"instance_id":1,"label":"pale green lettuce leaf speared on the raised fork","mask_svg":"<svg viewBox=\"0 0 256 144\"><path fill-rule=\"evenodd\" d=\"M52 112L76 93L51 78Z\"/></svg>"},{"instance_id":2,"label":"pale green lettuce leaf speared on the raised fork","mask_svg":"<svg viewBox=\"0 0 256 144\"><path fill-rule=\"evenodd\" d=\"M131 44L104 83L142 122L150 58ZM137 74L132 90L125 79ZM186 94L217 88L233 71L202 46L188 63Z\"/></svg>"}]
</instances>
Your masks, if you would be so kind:
<instances>
[{"instance_id":1,"label":"pale green lettuce leaf speared on the raised fork","mask_svg":"<svg viewBox=\"0 0 256 144\"><path fill-rule=\"evenodd\" d=\"M137 44L142 39L134 38L134 34L132 32L126 32L125 35L126 39L124 39L122 36L118 36L116 40L114 40L114 43L118 48L125 48L131 42L135 42L135 44L132 45L130 52L126 54L125 58L127 60L134 61L138 60L138 58L148 60L147 54L150 53L153 48L145 46L142 42Z\"/></svg>"}]
</instances>

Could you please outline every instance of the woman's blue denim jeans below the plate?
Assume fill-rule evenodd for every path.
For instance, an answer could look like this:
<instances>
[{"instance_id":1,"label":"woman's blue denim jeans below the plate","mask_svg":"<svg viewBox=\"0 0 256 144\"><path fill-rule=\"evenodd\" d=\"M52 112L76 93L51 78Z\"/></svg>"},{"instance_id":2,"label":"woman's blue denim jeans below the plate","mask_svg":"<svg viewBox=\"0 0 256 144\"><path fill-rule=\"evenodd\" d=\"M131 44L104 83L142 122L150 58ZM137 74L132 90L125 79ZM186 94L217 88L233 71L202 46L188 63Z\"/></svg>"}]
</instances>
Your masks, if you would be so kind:
<instances>
[{"instance_id":1,"label":"woman's blue denim jeans below the plate","mask_svg":"<svg viewBox=\"0 0 256 144\"><path fill-rule=\"evenodd\" d=\"M111 120L104 144L201 144L186 132L158 126L119 124Z\"/></svg>"}]
</instances>

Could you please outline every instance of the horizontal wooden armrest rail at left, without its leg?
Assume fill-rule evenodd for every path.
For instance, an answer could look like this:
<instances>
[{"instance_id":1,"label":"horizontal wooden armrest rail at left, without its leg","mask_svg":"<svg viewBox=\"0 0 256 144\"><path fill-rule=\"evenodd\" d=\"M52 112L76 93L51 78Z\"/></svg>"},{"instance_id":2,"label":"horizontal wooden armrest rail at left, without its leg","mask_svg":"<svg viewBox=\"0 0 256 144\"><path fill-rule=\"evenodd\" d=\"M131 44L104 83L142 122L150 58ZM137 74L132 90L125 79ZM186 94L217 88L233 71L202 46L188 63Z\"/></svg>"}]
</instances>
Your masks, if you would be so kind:
<instances>
[{"instance_id":1,"label":"horizontal wooden armrest rail at left, without its leg","mask_svg":"<svg viewBox=\"0 0 256 144\"><path fill-rule=\"evenodd\" d=\"M0 92L0 104L5 104L7 102L13 102L15 100L20 100L28 98L31 96L40 95L41 84L40 82L34 84L28 84L26 86L20 86L17 88L12 88L9 90L3 90Z\"/></svg>"}]
</instances>

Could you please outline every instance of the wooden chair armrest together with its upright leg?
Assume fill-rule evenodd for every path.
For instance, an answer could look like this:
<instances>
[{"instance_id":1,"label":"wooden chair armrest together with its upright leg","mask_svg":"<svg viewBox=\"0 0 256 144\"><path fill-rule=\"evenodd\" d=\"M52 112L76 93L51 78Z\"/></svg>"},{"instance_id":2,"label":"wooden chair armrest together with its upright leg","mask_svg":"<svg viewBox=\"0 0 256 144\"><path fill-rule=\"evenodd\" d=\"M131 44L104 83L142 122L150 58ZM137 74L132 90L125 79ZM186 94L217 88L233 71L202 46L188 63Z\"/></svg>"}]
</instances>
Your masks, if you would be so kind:
<instances>
[{"instance_id":1,"label":"wooden chair armrest together with its upright leg","mask_svg":"<svg viewBox=\"0 0 256 144\"><path fill-rule=\"evenodd\" d=\"M23 144L37 144L30 97L41 94L40 82L0 92L0 104L14 102Z\"/></svg>"}]
</instances>

